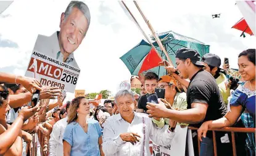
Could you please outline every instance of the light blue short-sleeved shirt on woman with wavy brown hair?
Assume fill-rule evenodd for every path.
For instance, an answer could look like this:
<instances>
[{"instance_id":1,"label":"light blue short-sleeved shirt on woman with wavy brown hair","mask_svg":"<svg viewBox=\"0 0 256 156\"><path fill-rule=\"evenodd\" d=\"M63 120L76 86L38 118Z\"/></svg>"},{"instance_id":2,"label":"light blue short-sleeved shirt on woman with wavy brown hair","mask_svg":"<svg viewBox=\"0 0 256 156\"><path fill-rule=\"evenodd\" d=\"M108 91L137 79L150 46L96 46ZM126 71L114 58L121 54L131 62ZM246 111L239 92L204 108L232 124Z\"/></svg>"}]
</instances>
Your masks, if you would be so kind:
<instances>
[{"instance_id":1,"label":"light blue short-sleeved shirt on woman with wavy brown hair","mask_svg":"<svg viewBox=\"0 0 256 156\"><path fill-rule=\"evenodd\" d=\"M88 131L85 133L77 122L69 123L65 129L63 140L70 144L70 155L80 156L99 156L99 137L102 135L102 128L99 122L87 119Z\"/></svg>"}]
</instances>

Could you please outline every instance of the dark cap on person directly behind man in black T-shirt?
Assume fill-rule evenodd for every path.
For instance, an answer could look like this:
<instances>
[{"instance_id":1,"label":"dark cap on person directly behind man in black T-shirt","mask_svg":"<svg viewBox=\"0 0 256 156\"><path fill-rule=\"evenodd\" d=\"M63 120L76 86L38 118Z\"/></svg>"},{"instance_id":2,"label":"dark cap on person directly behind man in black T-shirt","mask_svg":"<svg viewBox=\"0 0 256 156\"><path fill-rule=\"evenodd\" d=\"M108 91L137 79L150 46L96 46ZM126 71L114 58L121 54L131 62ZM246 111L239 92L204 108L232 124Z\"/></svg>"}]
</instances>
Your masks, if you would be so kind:
<instances>
[{"instance_id":1,"label":"dark cap on person directly behind man in black T-shirt","mask_svg":"<svg viewBox=\"0 0 256 156\"><path fill-rule=\"evenodd\" d=\"M220 64L221 64L221 60L220 57L218 57L217 55L213 54L213 53L206 53L203 57L202 57L202 62L210 65L210 66L217 66L218 68L220 68Z\"/></svg>"}]
</instances>

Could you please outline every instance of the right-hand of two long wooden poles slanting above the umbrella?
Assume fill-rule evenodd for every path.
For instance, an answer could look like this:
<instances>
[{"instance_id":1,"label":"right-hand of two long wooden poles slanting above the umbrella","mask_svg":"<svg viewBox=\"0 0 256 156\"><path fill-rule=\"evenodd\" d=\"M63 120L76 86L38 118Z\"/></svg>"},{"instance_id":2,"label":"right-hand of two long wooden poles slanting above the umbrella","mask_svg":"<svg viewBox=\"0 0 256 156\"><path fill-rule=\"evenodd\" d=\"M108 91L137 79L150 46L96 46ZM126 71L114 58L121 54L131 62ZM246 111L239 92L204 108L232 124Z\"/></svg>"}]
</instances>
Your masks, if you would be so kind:
<instances>
[{"instance_id":1,"label":"right-hand of two long wooden poles slanting above the umbrella","mask_svg":"<svg viewBox=\"0 0 256 156\"><path fill-rule=\"evenodd\" d=\"M149 23L149 20L147 20L147 18L145 17L145 15L143 14L142 10L139 8L139 5L137 4L136 1L133 1L135 6L137 7L137 9L139 10L139 12L141 13L144 21L147 23L147 26L149 27L149 29L151 30L151 33L153 34L153 36L155 37L155 41L157 41L157 44L159 45L160 49L163 50L163 53L165 53L167 60L171 63L171 65L173 66L173 62L171 61L170 57L168 56L168 53L166 52L165 48L163 47L162 42L160 41L159 37L157 36L157 34L155 33L151 23ZM174 67L174 66L173 66Z\"/></svg>"}]
</instances>

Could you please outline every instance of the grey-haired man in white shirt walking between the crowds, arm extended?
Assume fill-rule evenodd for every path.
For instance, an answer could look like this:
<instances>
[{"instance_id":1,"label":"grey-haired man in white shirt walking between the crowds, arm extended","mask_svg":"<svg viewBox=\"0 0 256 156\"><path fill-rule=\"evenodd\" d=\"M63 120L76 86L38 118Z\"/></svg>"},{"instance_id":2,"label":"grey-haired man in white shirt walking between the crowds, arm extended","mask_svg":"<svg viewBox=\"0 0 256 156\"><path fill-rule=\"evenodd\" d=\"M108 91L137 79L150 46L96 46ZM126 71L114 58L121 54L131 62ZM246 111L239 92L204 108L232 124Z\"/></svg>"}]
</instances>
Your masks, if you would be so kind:
<instances>
[{"instance_id":1,"label":"grey-haired man in white shirt walking between the crowds, arm extended","mask_svg":"<svg viewBox=\"0 0 256 156\"><path fill-rule=\"evenodd\" d=\"M176 122L170 120L165 131L155 127L147 114L133 111L134 95L128 90L120 90L115 103L120 113L105 121L102 144L105 155L151 155L149 139L162 146L171 144Z\"/></svg>"}]
</instances>

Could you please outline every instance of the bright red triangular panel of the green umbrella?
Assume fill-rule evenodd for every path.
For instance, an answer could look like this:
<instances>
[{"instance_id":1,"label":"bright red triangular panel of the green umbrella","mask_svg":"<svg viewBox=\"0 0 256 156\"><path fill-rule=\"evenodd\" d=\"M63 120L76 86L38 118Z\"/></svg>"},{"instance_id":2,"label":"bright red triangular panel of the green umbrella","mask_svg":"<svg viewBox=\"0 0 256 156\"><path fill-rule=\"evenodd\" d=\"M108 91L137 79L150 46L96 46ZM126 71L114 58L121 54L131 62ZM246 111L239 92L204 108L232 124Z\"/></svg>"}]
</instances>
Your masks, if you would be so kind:
<instances>
[{"instance_id":1,"label":"bright red triangular panel of the green umbrella","mask_svg":"<svg viewBox=\"0 0 256 156\"><path fill-rule=\"evenodd\" d=\"M141 69L139 69L139 74L142 71L147 71L149 69L159 66L160 61L162 61L162 59L159 57L157 52L155 52L155 49L152 48L151 51L147 54L145 60L143 61Z\"/></svg>"}]
</instances>

